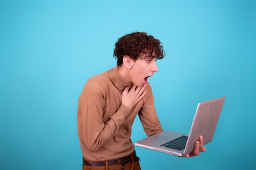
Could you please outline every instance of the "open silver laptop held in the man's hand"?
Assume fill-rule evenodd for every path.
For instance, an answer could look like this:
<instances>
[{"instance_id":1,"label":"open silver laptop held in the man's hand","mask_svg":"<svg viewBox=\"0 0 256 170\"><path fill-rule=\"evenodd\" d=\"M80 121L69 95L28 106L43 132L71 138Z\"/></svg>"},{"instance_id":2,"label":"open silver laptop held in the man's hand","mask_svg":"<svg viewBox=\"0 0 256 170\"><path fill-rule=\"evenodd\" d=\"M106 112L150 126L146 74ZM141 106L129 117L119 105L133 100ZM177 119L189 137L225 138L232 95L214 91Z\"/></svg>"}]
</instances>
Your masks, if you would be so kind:
<instances>
[{"instance_id":1,"label":"open silver laptop held in the man's hand","mask_svg":"<svg viewBox=\"0 0 256 170\"><path fill-rule=\"evenodd\" d=\"M190 154L193 152L195 142L199 140L200 135L203 136L203 145L213 139L224 101L225 97L222 97L198 103L189 135L165 130L134 144L138 147L154 149L181 157Z\"/></svg>"}]
</instances>

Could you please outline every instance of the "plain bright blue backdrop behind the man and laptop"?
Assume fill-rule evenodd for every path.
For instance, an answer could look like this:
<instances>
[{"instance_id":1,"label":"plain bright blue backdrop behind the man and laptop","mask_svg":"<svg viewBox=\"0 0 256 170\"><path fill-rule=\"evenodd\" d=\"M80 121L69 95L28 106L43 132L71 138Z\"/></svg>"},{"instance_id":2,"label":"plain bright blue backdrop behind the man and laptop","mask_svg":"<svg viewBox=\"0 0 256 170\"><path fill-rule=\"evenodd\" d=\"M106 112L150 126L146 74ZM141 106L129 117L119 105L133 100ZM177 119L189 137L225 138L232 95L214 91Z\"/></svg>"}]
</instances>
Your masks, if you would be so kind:
<instances>
[{"instance_id":1,"label":"plain bright blue backdrop behind the man and laptop","mask_svg":"<svg viewBox=\"0 0 256 170\"><path fill-rule=\"evenodd\" d=\"M198 102L226 97L206 152L136 147L142 169L255 168L255 11L242 0L1 1L0 169L82 169L78 97L132 31L166 51L149 79L164 130L188 133ZM143 137L137 118L132 140Z\"/></svg>"}]
</instances>

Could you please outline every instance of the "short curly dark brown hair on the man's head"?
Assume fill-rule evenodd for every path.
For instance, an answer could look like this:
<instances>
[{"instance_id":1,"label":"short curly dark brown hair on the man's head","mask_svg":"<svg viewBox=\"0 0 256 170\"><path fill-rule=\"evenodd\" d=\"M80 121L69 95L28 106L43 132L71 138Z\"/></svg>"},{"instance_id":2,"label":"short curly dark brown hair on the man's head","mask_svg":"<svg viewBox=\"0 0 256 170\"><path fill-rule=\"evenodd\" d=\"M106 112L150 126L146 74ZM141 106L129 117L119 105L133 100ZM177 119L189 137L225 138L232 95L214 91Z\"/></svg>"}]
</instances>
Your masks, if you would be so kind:
<instances>
[{"instance_id":1,"label":"short curly dark brown hair on the man's head","mask_svg":"<svg viewBox=\"0 0 256 170\"><path fill-rule=\"evenodd\" d=\"M144 32L134 32L119 38L114 44L113 57L117 59L119 66L123 63L123 57L128 55L132 60L137 60L142 54L146 57L161 60L165 56L164 48L158 39Z\"/></svg>"}]
</instances>

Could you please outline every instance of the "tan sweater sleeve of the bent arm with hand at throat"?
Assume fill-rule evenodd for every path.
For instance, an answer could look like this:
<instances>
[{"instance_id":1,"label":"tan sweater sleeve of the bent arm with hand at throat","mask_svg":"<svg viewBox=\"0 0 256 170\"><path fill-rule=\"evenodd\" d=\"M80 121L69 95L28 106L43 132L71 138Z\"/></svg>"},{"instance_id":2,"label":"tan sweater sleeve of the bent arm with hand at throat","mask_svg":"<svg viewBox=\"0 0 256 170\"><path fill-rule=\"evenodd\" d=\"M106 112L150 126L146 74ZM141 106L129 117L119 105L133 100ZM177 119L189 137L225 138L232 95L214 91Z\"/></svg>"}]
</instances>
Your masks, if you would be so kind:
<instances>
[{"instance_id":1,"label":"tan sweater sleeve of the bent arm with hand at throat","mask_svg":"<svg viewBox=\"0 0 256 170\"><path fill-rule=\"evenodd\" d=\"M88 150L96 151L113 136L124 122L129 108L121 104L119 110L103 122L104 89L100 82L89 79L78 101L78 136Z\"/></svg>"}]
</instances>

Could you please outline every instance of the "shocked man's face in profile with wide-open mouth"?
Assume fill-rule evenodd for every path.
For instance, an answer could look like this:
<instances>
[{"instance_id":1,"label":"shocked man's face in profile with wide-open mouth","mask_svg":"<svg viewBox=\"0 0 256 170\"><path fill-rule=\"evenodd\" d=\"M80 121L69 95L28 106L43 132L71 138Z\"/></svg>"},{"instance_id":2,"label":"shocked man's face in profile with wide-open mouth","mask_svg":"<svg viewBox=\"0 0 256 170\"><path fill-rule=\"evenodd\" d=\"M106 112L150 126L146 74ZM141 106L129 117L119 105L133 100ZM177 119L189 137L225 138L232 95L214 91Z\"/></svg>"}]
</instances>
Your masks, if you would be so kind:
<instances>
[{"instance_id":1,"label":"shocked man's face in profile with wide-open mouth","mask_svg":"<svg viewBox=\"0 0 256 170\"><path fill-rule=\"evenodd\" d=\"M156 57L142 55L136 62L133 61L130 78L135 86L143 86L143 84L146 84L147 79L157 71Z\"/></svg>"}]
</instances>

